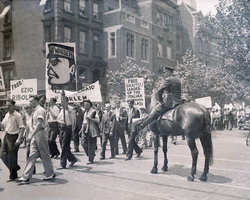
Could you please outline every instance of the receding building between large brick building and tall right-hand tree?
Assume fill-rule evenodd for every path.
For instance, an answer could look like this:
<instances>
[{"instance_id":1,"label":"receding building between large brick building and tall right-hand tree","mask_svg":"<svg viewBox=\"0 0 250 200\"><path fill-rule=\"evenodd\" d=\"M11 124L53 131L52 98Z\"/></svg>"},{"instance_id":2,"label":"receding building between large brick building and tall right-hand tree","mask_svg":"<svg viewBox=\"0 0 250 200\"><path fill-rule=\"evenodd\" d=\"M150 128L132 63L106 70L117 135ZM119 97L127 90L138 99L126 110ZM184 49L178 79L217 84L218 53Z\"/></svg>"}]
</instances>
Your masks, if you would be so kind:
<instances>
[{"instance_id":1,"label":"receding building between large brick building and tall right-hand tree","mask_svg":"<svg viewBox=\"0 0 250 200\"><path fill-rule=\"evenodd\" d=\"M182 0L178 10L183 27L180 46L182 54L189 49L203 64L218 66L220 63L217 53L219 38L204 26L204 16L201 11L197 11L196 2Z\"/></svg>"}]
</instances>

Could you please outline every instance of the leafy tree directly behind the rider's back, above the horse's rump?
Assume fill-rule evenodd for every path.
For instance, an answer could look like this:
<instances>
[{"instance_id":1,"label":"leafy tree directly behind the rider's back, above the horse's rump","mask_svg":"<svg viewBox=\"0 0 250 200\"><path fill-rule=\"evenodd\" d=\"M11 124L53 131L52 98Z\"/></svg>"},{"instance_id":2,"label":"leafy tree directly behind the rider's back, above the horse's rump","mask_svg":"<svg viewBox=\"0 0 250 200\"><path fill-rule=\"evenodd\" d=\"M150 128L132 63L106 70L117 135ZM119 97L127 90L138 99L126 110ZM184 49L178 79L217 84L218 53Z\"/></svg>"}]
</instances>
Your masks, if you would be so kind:
<instances>
[{"instance_id":1,"label":"leafy tree directly behind the rider's back, above the horse's rump","mask_svg":"<svg viewBox=\"0 0 250 200\"><path fill-rule=\"evenodd\" d=\"M206 66L199 62L198 58L187 51L182 57L182 63L178 65L177 74L182 80L182 93L185 98L211 96L214 102L224 104L230 101L228 91L228 73L221 66Z\"/></svg>"}]
</instances>

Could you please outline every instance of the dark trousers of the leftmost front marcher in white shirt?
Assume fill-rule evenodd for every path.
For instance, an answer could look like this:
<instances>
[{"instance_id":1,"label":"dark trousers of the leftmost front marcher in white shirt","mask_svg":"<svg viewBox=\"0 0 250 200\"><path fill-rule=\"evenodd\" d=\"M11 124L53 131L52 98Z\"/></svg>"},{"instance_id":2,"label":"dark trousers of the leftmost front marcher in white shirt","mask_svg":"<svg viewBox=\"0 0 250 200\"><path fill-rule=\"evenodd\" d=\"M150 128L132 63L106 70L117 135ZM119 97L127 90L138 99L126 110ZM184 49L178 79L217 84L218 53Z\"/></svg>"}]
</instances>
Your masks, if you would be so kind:
<instances>
[{"instance_id":1,"label":"dark trousers of the leftmost front marcher in white shirt","mask_svg":"<svg viewBox=\"0 0 250 200\"><path fill-rule=\"evenodd\" d=\"M17 171L20 169L20 166L17 164L19 147L15 145L17 138L18 134L11 135L8 133L3 138L1 158L10 171L10 179L16 179L18 177Z\"/></svg>"}]
</instances>

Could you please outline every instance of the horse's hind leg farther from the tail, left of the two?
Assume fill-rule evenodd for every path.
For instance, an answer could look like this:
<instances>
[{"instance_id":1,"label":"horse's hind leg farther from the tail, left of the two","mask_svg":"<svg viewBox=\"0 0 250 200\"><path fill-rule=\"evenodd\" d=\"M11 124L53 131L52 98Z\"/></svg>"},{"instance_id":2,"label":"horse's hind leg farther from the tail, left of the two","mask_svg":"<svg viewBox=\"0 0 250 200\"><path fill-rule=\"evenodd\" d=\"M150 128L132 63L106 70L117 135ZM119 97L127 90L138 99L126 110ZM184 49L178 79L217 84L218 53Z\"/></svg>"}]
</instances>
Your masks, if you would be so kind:
<instances>
[{"instance_id":1,"label":"horse's hind leg farther from the tail, left of the two","mask_svg":"<svg viewBox=\"0 0 250 200\"><path fill-rule=\"evenodd\" d=\"M187 139L188 146L191 150L192 154L192 168L191 168L191 175L187 177L188 181L194 181L194 175L196 174L196 165L197 165L197 159L198 159L198 149L196 147L195 139Z\"/></svg>"}]
</instances>

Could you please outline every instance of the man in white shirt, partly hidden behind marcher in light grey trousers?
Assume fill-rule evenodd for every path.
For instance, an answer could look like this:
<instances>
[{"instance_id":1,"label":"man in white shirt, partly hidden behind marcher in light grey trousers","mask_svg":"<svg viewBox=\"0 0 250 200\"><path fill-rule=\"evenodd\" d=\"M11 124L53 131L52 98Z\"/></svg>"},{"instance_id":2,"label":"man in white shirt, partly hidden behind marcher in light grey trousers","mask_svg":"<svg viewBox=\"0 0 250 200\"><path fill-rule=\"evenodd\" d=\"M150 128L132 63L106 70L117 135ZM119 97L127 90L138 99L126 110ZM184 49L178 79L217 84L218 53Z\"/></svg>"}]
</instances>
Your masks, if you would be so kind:
<instances>
[{"instance_id":1,"label":"man in white shirt, partly hidden behind marcher in light grey trousers","mask_svg":"<svg viewBox=\"0 0 250 200\"><path fill-rule=\"evenodd\" d=\"M56 105L56 98L51 98L48 108L48 123L49 123L49 149L51 158L57 158L60 152L56 145L56 138L59 135L59 125L57 122L57 117L60 113L60 109Z\"/></svg>"}]
</instances>

